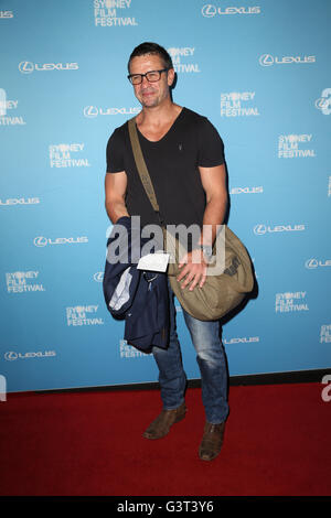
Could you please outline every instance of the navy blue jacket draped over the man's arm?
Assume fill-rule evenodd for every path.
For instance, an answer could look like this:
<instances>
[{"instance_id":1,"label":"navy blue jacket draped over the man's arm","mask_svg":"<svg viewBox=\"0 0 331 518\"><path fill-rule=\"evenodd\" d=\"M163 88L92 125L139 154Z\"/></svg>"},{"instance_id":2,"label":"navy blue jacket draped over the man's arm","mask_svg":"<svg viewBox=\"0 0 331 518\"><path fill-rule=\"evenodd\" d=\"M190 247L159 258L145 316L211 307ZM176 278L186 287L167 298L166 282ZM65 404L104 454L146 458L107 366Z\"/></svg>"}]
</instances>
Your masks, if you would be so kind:
<instances>
[{"instance_id":1,"label":"navy blue jacket draped over the man's arm","mask_svg":"<svg viewBox=\"0 0 331 518\"><path fill-rule=\"evenodd\" d=\"M145 353L150 353L152 346L167 348L169 344L167 273L137 269L141 248L148 241L141 238L140 229L131 231L130 217L119 218L107 241L103 282L108 311L115 319L125 320L124 338Z\"/></svg>"}]
</instances>

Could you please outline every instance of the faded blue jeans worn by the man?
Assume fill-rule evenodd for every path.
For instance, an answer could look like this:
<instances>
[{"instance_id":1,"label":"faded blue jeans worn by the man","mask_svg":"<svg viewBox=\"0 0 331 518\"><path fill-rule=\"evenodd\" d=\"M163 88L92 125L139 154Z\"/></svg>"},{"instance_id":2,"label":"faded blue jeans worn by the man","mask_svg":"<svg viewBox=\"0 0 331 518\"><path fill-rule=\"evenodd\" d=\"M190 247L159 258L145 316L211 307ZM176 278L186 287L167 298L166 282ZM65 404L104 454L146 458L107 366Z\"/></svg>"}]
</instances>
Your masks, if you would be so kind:
<instances>
[{"instance_id":1,"label":"faded blue jeans worn by the man","mask_svg":"<svg viewBox=\"0 0 331 518\"><path fill-rule=\"evenodd\" d=\"M170 285L169 299L169 347L167 349L153 347L152 354L159 367L163 408L172 410L180 407L184 401L186 375L183 369L180 343L175 331L175 306ZM224 347L220 338L220 322L199 321L184 310L183 314L196 352L205 417L210 423L217 424L225 421L228 414L227 368Z\"/></svg>"}]
</instances>

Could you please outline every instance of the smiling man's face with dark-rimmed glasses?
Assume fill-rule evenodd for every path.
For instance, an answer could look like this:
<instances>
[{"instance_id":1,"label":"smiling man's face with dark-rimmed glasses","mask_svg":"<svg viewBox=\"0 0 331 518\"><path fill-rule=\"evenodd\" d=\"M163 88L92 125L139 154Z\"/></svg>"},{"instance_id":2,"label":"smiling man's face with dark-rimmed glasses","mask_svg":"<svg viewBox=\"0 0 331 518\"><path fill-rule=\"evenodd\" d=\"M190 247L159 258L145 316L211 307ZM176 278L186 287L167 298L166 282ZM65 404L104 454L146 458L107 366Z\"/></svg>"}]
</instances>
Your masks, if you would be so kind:
<instances>
[{"instance_id":1,"label":"smiling man's face with dark-rimmed glasses","mask_svg":"<svg viewBox=\"0 0 331 518\"><path fill-rule=\"evenodd\" d=\"M151 71L161 71L164 64L160 56L156 54L145 54L131 60L130 74L146 74ZM143 77L140 85L134 85L135 96L145 108L160 106L164 99L170 97L169 87L172 85L174 71L162 72L160 80L149 83Z\"/></svg>"}]
</instances>

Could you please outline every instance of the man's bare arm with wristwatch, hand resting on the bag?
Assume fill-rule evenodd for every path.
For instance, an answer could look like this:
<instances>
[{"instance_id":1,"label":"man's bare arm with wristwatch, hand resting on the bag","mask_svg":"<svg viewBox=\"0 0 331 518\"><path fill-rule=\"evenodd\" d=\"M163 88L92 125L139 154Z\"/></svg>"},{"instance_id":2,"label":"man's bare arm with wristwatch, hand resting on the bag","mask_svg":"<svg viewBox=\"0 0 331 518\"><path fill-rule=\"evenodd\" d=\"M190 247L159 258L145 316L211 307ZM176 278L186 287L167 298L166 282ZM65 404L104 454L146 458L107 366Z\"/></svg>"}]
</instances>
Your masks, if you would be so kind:
<instances>
[{"instance_id":1,"label":"man's bare arm with wristwatch, hand resting on the bag","mask_svg":"<svg viewBox=\"0 0 331 518\"><path fill-rule=\"evenodd\" d=\"M199 168L201 182L206 195L206 206L203 215L203 225L209 226L206 233L201 233L199 245L212 246L217 231L217 225L222 225L227 207L225 165L215 168ZM178 281L183 280L181 287L190 284L193 290L199 283L202 288L206 279L207 263L202 250L192 250L183 257L179 267L182 269Z\"/></svg>"}]
</instances>

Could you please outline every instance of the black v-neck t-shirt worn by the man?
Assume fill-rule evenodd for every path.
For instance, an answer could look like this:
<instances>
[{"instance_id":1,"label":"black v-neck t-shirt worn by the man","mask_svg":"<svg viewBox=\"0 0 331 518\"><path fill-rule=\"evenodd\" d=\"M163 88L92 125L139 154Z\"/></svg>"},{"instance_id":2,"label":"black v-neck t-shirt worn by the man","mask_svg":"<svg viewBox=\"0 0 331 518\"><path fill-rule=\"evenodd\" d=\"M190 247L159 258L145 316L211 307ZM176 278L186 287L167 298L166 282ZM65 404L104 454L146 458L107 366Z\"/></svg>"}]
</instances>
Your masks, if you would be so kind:
<instances>
[{"instance_id":1,"label":"black v-neck t-shirt worn by the man","mask_svg":"<svg viewBox=\"0 0 331 518\"><path fill-rule=\"evenodd\" d=\"M205 117L183 108L161 140L151 142L139 130L138 136L164 223L202 227L205 193L199 165L214 168L224 163L223 142L216 129ZM120 171L127 174L129 215L140 216L141 227L158 225L136 168L127 122L114 131L107 144L107 172Z\"/></svg>"}]
</instances>

